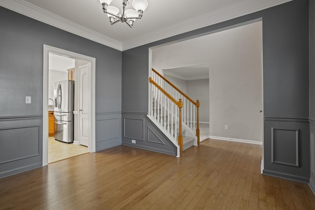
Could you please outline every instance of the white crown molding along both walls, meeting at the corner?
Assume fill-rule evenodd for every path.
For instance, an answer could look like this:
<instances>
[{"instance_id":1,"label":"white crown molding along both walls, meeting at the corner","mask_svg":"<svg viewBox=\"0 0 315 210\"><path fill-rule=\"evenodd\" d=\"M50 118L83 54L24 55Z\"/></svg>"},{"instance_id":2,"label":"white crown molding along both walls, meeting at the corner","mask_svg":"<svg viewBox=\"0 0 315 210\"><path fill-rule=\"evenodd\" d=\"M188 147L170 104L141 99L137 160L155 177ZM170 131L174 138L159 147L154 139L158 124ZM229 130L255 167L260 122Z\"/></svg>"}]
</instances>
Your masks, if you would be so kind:
<instances>
[{"instance_id":1,"label":"white crown molding along both walls, meeting at the corner","mask_svg":"<svg viewBox=\"0 0 315 210\"><path fill-rule=\"evenodd\" d=\"M247 15L288 1L291 0L244 0L240 3L233 4L229 7L222 8L188 21L147 33L134 39L129 39L126 42L120 42L93 30L87 29L47 10L37 7L25 0L0 0L0 6L108 47L124 51L167 37Z\"/></svg>"}]
</instances>

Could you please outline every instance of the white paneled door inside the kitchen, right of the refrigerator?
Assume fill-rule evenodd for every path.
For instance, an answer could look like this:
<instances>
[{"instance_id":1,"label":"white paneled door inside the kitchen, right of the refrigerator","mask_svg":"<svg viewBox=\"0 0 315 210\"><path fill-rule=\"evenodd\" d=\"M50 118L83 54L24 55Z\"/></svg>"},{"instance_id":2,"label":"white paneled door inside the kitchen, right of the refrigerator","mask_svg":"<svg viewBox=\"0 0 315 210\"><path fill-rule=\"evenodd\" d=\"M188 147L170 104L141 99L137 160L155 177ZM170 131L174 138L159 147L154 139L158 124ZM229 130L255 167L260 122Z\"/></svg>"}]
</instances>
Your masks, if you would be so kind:
<instances>
[{"instance_id":1,"label":"white paneled door inside the kitchen, right of the refrigerator","mask_svg":"<svg viewBox=\"0 0 315 210\"><path fill-rule=\"evenodd\" d=\"M87 146L89 145L89 123L88 119L90 118L90 65L79 66L80 72L80 99L79 99L79 126L80 134L79 139L80 145Z\"/></svg>"}]
</instances>

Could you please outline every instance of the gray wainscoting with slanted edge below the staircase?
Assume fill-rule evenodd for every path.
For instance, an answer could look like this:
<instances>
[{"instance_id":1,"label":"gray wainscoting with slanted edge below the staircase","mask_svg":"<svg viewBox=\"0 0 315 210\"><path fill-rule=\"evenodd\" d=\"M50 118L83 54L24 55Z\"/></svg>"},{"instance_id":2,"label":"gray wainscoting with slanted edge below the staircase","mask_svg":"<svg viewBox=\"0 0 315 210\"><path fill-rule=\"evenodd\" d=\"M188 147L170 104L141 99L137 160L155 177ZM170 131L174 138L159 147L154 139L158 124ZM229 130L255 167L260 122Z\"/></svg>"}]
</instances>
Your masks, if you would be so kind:
<instances>
[{"instance_id":1,"label":"gray wainscoting with slanted edge below the staircase","mask_svg":"<svg viewBox=\"0 0 315 210\"><path fill-rule=\"evenodd\" d=\"M123 113L122 144L164 154L177 154L177 147L147 118L146 113Z\"/></svg>"}]
</instances>

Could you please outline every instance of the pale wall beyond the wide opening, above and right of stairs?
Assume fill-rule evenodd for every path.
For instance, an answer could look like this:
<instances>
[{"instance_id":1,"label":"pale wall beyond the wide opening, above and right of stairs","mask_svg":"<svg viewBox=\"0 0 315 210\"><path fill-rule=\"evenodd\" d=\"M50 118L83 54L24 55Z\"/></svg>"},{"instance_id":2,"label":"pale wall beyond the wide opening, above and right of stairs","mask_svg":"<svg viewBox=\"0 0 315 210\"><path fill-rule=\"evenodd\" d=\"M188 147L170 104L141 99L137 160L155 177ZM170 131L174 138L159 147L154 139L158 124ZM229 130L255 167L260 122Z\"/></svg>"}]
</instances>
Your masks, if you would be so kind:
<instances>
[{"instance_id":1,"label":"pale wall beyond the wide opening, above and right of stairs","mask_svg":"<svg viewBox=\"0 0 315 210\"><path fill-rule=\"evenodd\" d=\"M208 62L209 137L263 145L262 50L256 19L150 48L149 76L151 67L165 75L163 69Z\"/></svg>"}]
</instances>

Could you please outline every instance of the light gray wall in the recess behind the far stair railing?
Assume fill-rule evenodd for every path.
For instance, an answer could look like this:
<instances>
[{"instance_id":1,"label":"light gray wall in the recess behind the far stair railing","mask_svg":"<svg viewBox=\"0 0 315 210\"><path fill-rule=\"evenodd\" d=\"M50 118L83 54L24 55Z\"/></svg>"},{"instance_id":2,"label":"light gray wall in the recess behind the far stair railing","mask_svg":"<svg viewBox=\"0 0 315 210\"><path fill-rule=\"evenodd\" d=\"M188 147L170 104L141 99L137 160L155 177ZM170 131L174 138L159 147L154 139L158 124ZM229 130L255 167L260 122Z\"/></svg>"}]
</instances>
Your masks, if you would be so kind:
<instances>
[{"instance_id":1,"label":"light gray wall in the recess behind the far stair railing","mask_svg":"<svg viewBox=\"0 0 315 210\"><path fill-rule=\"evenodd\" d=\"M186 81L187 95L199 100L199 121L209 122L209 79Z\"/></svg>"}]
</instances>

